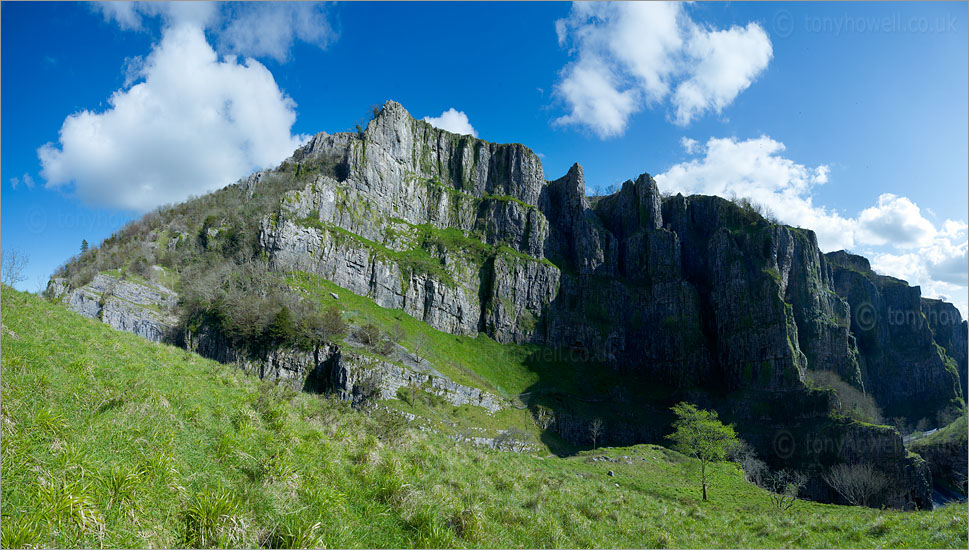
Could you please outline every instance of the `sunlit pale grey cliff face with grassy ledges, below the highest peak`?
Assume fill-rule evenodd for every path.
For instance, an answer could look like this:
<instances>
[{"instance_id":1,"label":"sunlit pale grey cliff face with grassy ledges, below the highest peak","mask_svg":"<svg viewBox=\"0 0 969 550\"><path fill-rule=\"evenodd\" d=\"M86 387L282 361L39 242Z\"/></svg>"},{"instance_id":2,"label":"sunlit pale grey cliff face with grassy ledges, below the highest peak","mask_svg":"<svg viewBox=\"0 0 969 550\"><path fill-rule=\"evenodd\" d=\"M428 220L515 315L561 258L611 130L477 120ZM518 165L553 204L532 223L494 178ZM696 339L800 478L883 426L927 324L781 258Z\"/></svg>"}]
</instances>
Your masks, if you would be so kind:
<instances>
[{"instance_id":1,"label":"sunlit pale grey cliff face with grassy ledges, below the highest peak","mask_svg":"<svg viewBox=\"0 0 969 550\"><path fill-rule=\"evenodd\" d=\"M321 175L263 220L276 270L320 275L447 332L536 339L558 273L542 261L534 153L443 132L389 102L362 136L318 135L290 162L344 163L346 178Z\"/></svg>"}]
</instances>

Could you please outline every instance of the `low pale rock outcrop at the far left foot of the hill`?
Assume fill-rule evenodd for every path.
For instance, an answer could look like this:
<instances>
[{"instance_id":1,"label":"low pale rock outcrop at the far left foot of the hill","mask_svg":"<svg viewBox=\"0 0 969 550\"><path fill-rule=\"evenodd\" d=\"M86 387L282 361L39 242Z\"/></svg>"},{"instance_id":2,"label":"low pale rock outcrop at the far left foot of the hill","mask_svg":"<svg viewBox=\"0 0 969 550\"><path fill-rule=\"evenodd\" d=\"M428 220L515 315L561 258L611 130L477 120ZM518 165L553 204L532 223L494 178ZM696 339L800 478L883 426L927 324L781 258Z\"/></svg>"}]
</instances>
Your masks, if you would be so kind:
<instances>
[{"instance_id":1,"label":"low pale rock outcrop at the far left foot of the hill","mask_svg":"<svg viewBox=\"0 0 969 550\"><path fill-rule=\"evenodd\" d=\"M176 294L148 282L101 273L87 285L70 290L63 279L55 278L48 284L47 293L72 311L152 342L168 339L178 322L172 313Z\"/></svg>"}]
</instances>

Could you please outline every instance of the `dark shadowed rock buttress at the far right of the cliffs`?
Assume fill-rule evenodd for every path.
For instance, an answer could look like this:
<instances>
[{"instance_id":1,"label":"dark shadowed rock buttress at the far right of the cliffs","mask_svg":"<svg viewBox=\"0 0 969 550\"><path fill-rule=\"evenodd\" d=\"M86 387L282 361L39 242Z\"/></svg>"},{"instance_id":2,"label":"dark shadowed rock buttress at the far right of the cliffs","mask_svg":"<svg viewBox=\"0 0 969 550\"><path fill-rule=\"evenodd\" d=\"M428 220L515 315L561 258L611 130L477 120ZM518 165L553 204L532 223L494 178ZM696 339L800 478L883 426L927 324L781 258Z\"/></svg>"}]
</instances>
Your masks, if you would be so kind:
<instances>
[{"instance_id":1,"label":"dark shadowed rock buttress at the far right of the cliffs","mask_svg":"<svg viewBox=\"0 0 969 550\"><path fill-rule=\"evenodd\" d=\"M937 331L947 332L938 323L941 309L933 314L930 304L927 316L919 287L874 273L861 256L841 251L826 259L834 290L851 308L864 387L885 417L934 422L940 411L958 407L963 393L957 363L934 339L927 321L935 317ZM958 334L950 336L947 343L960 351Z\"/></svg>"}]
</instances>

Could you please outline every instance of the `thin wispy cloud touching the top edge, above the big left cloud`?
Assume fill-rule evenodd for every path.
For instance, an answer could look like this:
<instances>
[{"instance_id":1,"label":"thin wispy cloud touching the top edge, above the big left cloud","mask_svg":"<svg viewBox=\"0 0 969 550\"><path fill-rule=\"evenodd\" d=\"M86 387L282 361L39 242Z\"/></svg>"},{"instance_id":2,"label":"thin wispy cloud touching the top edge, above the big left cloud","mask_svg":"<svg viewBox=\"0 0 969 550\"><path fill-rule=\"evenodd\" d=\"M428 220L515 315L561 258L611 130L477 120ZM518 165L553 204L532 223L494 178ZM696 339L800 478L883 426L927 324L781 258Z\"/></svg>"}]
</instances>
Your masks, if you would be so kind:
<instances>
[{"instance_id":1,"label":"thin wispy cloud touching the top edge, above the big left cloud","mask_svg":"<svg viewBox=\"0 0 969 550\"><path fill-rule=\"evenodd\" d=\"M99 2L95 9L122 29L146 19L192 24L216 37L219 51L286 61L295 41L325 48L335 37L322 2Z\"/></svg>"}]
</instances>

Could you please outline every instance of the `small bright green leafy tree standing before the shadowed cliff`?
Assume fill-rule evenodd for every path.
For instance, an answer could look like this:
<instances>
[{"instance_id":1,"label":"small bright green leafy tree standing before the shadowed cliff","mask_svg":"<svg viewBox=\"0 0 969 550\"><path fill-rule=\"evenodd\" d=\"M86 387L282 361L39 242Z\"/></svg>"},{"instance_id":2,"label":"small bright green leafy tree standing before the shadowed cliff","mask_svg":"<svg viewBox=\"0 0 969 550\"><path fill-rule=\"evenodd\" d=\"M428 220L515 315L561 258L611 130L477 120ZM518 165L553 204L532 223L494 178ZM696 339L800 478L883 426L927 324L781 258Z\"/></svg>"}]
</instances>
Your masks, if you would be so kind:
<instances>
[{"instance_id":1,"label":"small bright green leafy tree standing before the shadowed cliff","mask_svg":"<svg viewBox=\"0 0 969 550\"><path fill-rule=\"evenodd\" d=\"M707 500L707 466L729 456L737 445L733 426L725 426L715 411L698 409L690 403L680 403L671 409L676 414L673 433L666 436L677 451L692 456L700 463L700 485L703 500Z\"/></svg>"}]
</instances>

